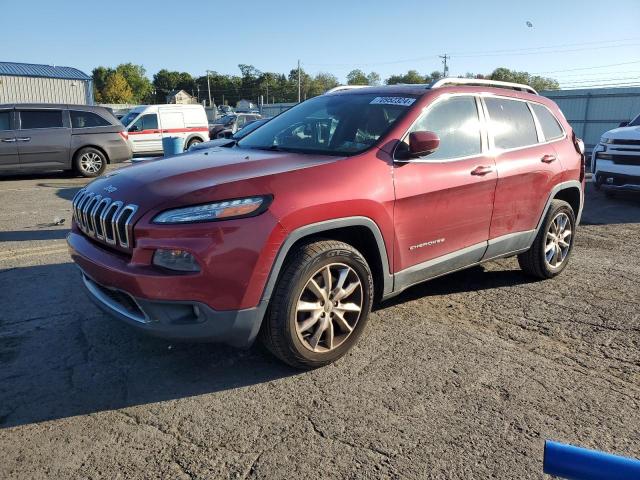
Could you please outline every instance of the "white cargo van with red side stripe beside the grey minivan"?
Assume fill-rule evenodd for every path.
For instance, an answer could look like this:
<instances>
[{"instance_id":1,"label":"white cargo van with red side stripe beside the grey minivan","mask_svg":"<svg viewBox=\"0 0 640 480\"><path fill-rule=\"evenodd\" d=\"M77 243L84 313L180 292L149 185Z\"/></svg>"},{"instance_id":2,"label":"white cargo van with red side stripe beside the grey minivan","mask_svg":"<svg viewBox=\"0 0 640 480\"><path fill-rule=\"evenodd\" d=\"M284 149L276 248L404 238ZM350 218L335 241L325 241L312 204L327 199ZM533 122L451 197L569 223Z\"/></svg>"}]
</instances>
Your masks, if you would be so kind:
<instances>
[{"instance_id":1,"label":"white cargo van with red side stripe beside the grey minivan","mask_svg":"<svg viewBox=\"0 0 640 480\"><path fill-rule=\"evenodd\" d=\"M209 140L209 123L202 105L140 105L121 122L133 153L162 153L163 137L182 137L184 149Z\"/></svg>"}]
</instances>

